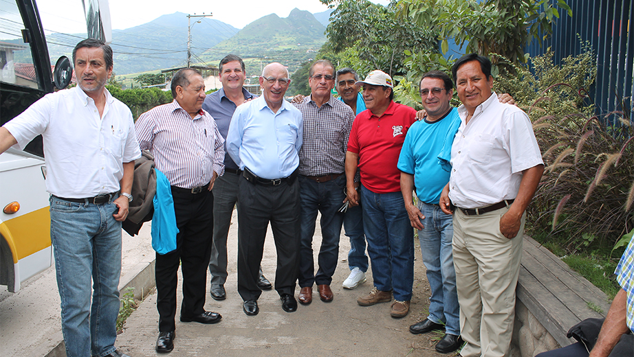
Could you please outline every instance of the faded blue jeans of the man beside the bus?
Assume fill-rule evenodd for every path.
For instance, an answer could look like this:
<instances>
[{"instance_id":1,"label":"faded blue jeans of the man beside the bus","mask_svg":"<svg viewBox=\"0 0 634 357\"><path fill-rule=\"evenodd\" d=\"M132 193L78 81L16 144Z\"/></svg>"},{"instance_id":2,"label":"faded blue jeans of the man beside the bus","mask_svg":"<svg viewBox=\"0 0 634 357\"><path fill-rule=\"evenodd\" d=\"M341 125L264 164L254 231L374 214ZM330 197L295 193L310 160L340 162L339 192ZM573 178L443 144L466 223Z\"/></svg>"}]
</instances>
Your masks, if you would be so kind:
<instances>
[{"instance_id":1,"label":"faded blue jeans of the man beside the bus","mask_svg":"<svg viewBox=\"0 0 634 357\"><path fill-rule=\"evenodd\" d=\"M117 207L54 196L50 203L66 356L106 356L116 350L119 314L121 222L112 216Z\"/></svg>"}]
</instances>

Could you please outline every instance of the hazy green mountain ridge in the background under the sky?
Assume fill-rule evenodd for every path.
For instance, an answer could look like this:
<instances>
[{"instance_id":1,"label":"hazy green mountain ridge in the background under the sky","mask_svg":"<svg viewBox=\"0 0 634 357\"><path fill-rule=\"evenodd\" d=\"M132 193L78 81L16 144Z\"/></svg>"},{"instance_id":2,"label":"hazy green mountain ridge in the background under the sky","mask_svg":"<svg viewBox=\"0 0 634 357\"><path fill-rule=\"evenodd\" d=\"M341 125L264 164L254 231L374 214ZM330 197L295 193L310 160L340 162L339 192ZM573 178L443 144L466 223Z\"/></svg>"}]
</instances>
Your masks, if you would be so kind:
<instances>
[{"instance_id":1,"label":"hazy green mountain ridge in the background under the sky","mask_svg":"<svg viewBox=\"0 0 634 357\"><path fill-rule=\"evenodd\" d=\"M329 12L318 13L327 19ZM281 18L268 14L237 29L215 19L191 19L192 62L201 65L217 60L229 53L243 58L272 62L278 61L294 71L312 52L325 43L325 26L314 14L293 9ZM182 12L164 14L149 23L125 30L113 30L114 69L117 76L181 67L187 57L187 16ZM72 56L72 48L83 35L47 35L50 58Z\"/></svg>"}]
</instances>

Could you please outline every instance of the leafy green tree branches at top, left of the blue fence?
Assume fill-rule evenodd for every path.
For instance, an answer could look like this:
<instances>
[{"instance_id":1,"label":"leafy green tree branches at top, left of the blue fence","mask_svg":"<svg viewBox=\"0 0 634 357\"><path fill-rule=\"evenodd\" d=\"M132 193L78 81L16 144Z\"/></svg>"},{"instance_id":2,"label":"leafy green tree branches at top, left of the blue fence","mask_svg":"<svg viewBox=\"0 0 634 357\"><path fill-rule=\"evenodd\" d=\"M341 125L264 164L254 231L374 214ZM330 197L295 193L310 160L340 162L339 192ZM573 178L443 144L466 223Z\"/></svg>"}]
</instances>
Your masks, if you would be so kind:
<instances>
[{"instance_id":1,"label":"leafy green tree branches at top, left of the blue fence","mask_svg":"<svg viewBox=\"0 0 634 357\"><path fill-rule=\"evenodd\" d=\"M443 53L453 38L460 46L468 43L467 53L496 54L516 64L526 62L524 47L533 38L541 43L550 36L557 8L572 16L565 0L400 0L396 7L402 21L437 31Z\"/></svg>"}]
</instances>

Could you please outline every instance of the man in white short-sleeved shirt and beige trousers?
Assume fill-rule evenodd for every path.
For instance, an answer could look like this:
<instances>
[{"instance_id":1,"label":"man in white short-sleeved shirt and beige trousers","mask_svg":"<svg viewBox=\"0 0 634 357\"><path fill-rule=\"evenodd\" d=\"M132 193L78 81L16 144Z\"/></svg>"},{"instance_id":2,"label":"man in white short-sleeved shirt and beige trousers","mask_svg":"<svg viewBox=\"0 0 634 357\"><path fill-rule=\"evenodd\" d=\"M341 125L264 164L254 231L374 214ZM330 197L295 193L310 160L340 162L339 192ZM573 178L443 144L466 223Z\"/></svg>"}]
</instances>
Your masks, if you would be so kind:
<instances>
[{"instance_id":1,"label":"man in white short-sleeved shirt and beige trousers","mask_svg":"<svg viewBox=\"0 0 634 357\"><path fill-rule=\"evenodd\" d=\"M463 105L440 207L453 213L460 354L508 356L525 210L544 165L526 113L492 91L490 60L468 54L452 72Z\"/></svg>"}]
</instances>

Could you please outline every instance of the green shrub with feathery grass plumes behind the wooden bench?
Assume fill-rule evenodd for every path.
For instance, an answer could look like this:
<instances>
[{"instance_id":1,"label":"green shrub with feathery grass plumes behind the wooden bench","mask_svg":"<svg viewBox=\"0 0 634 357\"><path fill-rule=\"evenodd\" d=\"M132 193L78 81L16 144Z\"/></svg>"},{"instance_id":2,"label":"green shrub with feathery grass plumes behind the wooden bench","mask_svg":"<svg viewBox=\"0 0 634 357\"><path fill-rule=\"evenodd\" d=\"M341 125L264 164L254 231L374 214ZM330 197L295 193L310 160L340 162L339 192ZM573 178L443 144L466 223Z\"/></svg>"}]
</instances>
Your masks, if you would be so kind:
<instances>
[{"instance_id":1,"label":"green shrub with feathery grass plumes behind the wooden bench","mask_svg":"<svg viewBox=\"0 0 634 357\"><path fill-rule=\"evenodd\" d=\"M531 58L532 72L518 67L516 76L494 85L512 93L531 117L543 152L546 168L528 209L529 233L549 232L568 253L609 256L634 226L634 130L626 113L595 115L586 95L594 58L586 47L558 66L548 52ZM608 116L618 125L604 120Z\"/></svg>"}]
</instances>

